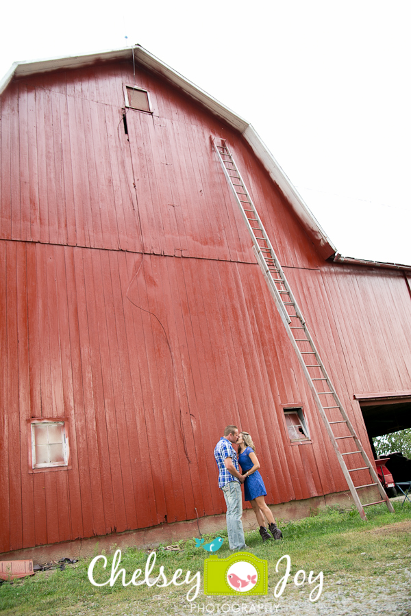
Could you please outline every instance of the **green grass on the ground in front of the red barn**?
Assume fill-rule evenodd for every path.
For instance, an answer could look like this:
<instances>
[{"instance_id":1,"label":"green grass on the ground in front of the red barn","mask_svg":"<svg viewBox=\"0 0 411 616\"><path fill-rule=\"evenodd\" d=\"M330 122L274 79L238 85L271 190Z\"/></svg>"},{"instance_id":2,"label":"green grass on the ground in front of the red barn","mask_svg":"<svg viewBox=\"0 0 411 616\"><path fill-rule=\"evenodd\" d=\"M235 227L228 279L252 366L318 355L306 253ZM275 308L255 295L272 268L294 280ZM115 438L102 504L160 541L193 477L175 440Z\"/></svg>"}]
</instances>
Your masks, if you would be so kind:
<instances>
[{"instance_id":1,"label":"green grass on the ground in front of the red barn","mask_svg":"<svg viewBox=\"0 0 411 616\"><path fill-rule=\"evenodd\" d=\"M337 580L338 576L349 575L362 580L373 580L375 576L386 573L387 567L400 574L405 566L410 566L409 554L411 548L411 506L406 504L401 508L397 503L395 514L388 513L386 506L377 505L367 509L368 522L360 519L357 511L327 508L319 510L305 519L284 523L277 521L282 528L283 541L262 543L258 531L246 533L247 546L253 554L269 562L269 591L283 573L275 573L275 565L284 554L291 559L291 574L303 569L314 571L314 575L323 571L325 576L324 590L327 583ZM395 526L393 526L395 525ZM408 532L406 530L408 529ZM221 530L206 540L221 535L227 537L227 531ZM151 576L158 576L158 567L164 565L168 578L176 569L182 569L182 577L190 569L192 574L201 572L201 590L197 601L203 596L203 561L209 554L201 548L195 548L194 539L180 541L181 552L168 552L164 546L155 551L157 561ZM95 569L96 581L105 581L110 576L111 562L116 546L112 546L107 569L101 566ZM96 550L96 555L99 554ZM121 565L127 572L126 580L130 580L135 569L143 570L149 552L136 548L123 550ZM225 540L218 556L225 558L231 552ZM407 561L408 559L408 561ZM123 587L119 579L114 587L93 587L87 576L91 559L84 559L74 567L65 571L59 569L49 573L39 573L30 578L15 580L13 584L5 582L0 587L0 614L16 616L69 616L75 614L103 614L104 616L145 614L162 615L167 612L179 611L189 613L185 595L187 585L166 588L146 585L140 587ZM101 561L100 561L101 562ZM337 582L338 583L338 582ZM362 582L364 584L364 582ZM290 578L290 592L295 589Z\"/></svg>"}]
</instances>

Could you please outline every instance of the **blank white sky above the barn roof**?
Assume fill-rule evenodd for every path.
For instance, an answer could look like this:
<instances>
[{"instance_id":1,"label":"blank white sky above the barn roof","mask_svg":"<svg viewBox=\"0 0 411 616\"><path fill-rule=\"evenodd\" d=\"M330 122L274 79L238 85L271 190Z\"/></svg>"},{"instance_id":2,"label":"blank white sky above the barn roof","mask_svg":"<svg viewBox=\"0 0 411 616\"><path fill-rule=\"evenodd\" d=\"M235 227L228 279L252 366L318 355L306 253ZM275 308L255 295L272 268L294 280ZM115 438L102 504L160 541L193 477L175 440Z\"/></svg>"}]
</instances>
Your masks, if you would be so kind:
<instances>
[{"instance_id":1,"label":"blank white sky above the barn roof","mask_svg":"<svg viewBox=\"0 0 411 616\"><path fill-rule=\"evenodd\" d=\"M21 0L0 15L1 76L140 43L253 124L340 253L411 265L410 0Z\"/></svg>"}]
</instances>

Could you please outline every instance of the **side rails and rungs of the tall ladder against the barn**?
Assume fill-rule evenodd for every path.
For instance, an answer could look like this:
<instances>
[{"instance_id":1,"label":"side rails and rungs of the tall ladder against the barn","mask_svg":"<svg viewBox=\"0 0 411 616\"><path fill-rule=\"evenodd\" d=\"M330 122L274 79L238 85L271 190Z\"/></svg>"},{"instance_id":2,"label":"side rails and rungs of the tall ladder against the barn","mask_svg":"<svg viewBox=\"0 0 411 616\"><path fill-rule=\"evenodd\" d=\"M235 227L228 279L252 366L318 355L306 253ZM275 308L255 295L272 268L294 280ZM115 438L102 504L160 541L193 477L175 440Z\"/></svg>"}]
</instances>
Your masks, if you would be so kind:
<instances>
[{"instance_id":1,"label":"side rails and rungs of the tall ladder against the barn","mask_svg":"<svg viewBox=\"0 0 411 616\"><path fill-rule=\"evenodd\" d=\"M277 255L274 251L274 248L271 244L271 241L269 239L268 234L266 233L266 230L264 228L264 224L262 223L262 220L258 214L258 211L256 209L256 206L253 203L253 200L251 198L251 195L249 194L249 191L247 190L247 186L245 184L245 182L242 179L242 176L240 174L240 171L238 170L236 163L234 162L233 156L231 153L229 153L227 145L225 140L222 140L224 142L224 146L217 146L216 142L214 139L212 139L212 144L214 145L214 149L219 157L219 160L221 162L221 166L223 167L223 172L225 174L225 177L229 183L230 188L232 189L232 192L234 194L234 198L236 199L236 202L238 204L238 207L240 208L240 213L242 214L242 218L245 220L245 224L247 226L247 229L249 231L249 234L251 235L251 240L253 242L253 252L256 255L256 259L257 262L262 270L262 274L264 276L264 279L266 280L266 283L269 287L269 290L271 292L271 296L273 297L273 300L275 302L275 305L277 306L277 309L279 311L279 315L282 319L282 322L286 328L286 332L288 334L288 337L290 338L290 342L297 354L297 358L299 359L299 363L301 364L301 368L303 370L304 375L306 376L306 380L308 382L308 385L311 389L312 392L312 396L314 398L314 402L316 403L316 407L321 415L321 418L324 422L325 428L327 430L327 433L329 435L329 439L332 442L332 446L334 448L334 452L336 453L338 462L340 463L340 467L341 470L343 471L343 474L345 476L345 479L347 481L347 485L349 487L349 490L351 491L351 495L353 496L353 500L357 506L358 511L360 512L360 515L363 519L366 519L366 515L363 509L363 505L360 501L360 498L358 496L357 493L357 489L360 489L361 487L369 487L371 485L377 485L377 488L379 490L379 493L381 494L382 498L384 499L381 502L386 502L386 505L388 507L388 510L393 512L393 505L390 503L390 500L388 499L388 496L386 495L386 492L384 491L384 488L382 487L379 478L377 476L377 473L374 470L373 465L371 464L371 461L369 460L369 457L366 455L366 452L364 451L364 448L362 447L362 444L360 442L360 439L358 438L358 435L353 427L353 425L351 424L351 421L349 420L349 417L347 415L347 413L345 412L345 409L343 407L342 402L340 401L338 394L336 392L336 389L334 388L334 385L332 384L331 378L329 378L329 375L327 373L327 370L325 368L325 365L323 364L323 361L321 360L321 357L319 355L319 352L316 348L316 345L314 344L314 340L312 339L312 335L310 334L310 331L308 329L308 326L306 324L306 321L303 318L303 313L301 312L301 309L299 308L299 305L297 303L297 300L294 296L294 294L292 293L292 290L290 288L290 285L288 285L288 281L286 279L286 275L284 274L284 270L282 269L281 264L279 263L278 259L277 259ZM219 151L220 149L225 149L226 153L223 153L223 155L221 154L221 152ZM227 156L229 157L229 160L225 160L223 159L223 156ZM234 167L234 169L227 169L226 164L232 165ZM234 172L236 175L230 175L230 172ZM240 183L234 183L233 179L236 179L238 182ZM237 192L236 191L236 186L240 187L244 192ZM241 199L241 196L245 196L247 198L248 201L245 201L245 199ZM247 203L247 205L249 205L249 207L251 209L245 209L243 203ZM255 218L253 219L249 219L247 216L246 212L251 212L251 214L253 214L253 216ZM250 222L257 222L259 227L252 227ZM262 237L257 237L255 231L258 231L261 233ZM263 241L266 243L266 246L260 246L260 244L258 243L258 240ZM270 261L273 261L274 265L268 264L266 261L266 257L263 254L264 252L267 252L270 254ZM274 279L272 272L270 271L270 267L273 268L277 273L276 273L276 279ZM279 285L284 286L285 291L282 289L279 289L276 285L276 283L278 283ZM282 294L286 294L288 295L288 297L290 298L290 302L286 302L284 303L284 300L282 300ZM293 307L293 309L295 310L295 315L292 315L290 313L288 313L287 309L286 309L286 305L290 305ZM301 322L301 327L300 326L292 326L291 325L291 318L297 318L300 322ZM306 339L304 338L296 338L295 335L292 333L292 330L295 329L299 329L299 330L303 330L304 334L306 335ZM297 335L297 334L296 334ZM301 349L298 346L298 343L308 343L310 344L310 348L312 349L310 352L308 351L301 351ZM318 365L316 364L310 364L310 363L306 363L304 361L304 357L303 355L314 355L316 362ZM323 377L324 378L314 378L313 376L311 376L308 368L320 368ZM326 383L327 387L329 388L329 392L317 392L316 387L314 385L314 380L315 381L323 381ZM333 396L334 401L336 402L336 406L332 406L332 407L324 407L323 403L321 402L321 395L329 395L329 396ZM345 423L347 424L347 428L349 429L350 435L347 435L345 437L336 437L334 435L334 432L332 431L332 426L327 418L327 415L325 414L325 410L324 409L338 409L340 411L341 416L343 417L343 421L342 422L332 422L332 423ZM358 448L358 452L356 453L360 453L362 455L362 458L364 459L364 462L366 463L366 467L362 467L361 469L351 469L349 470L347 468L347 465L345 463L345 460L343 458L345 454L344 452L340 452L340 449L338 448L338 443L336 439L347 439L347 438L352 438L355 443L356 446ZM358 486L356 487L356 485L354 485L353 480L351 478L350 472L356 471L356 470L364 470L367 469L369 470L369 473L371 475L371 478L373 479L373 481L375 483L373 484L366 484L366 486ZM364 505L366 506L366 505Z\"/></svg>"}]
</instances>

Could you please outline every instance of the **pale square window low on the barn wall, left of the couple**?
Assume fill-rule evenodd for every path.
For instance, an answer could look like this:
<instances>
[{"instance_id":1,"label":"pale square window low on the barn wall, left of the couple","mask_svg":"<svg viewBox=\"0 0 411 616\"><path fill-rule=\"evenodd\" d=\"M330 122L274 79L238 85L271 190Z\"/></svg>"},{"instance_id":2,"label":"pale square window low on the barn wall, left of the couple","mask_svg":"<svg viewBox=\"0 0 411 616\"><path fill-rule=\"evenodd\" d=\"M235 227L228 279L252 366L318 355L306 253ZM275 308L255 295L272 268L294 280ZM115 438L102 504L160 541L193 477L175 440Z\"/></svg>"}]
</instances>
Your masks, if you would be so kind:
<instances>
[{"instance_id":1,"label":"pale square window low on the barn wall, left of the couple","mask_svg":"<svg viewBox=\"0 0 411 616\"><path fill-rule=\"evenodd\" d=\"M31 421L33 469L68 465L69 440L66 424L64 420Z\"/></svg>"}]
</instances>

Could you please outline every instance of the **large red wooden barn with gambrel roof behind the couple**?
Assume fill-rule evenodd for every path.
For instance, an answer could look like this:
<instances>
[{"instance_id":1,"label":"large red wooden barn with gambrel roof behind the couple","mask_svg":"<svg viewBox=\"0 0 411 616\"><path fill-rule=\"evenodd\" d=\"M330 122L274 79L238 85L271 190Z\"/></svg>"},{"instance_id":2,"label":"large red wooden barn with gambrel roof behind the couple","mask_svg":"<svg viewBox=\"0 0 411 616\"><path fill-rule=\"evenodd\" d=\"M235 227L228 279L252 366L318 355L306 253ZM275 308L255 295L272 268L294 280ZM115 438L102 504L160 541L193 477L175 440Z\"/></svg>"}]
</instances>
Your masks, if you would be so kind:
<instances>
[{"instance_id":1,"label":"large red wooden barn with gambrel roof behind the couple","mask_svg":"<svg viewBox=\"0 0 411 616\"><path fill-rule=\"evenodd\" d=\"M215 144L371 459L410 426L411 268L338 257L251 125L141 47L18 63L0 103L0 551L210 528L229 423L270 504L347 493Z\"/></svg>"}]
</instances>

